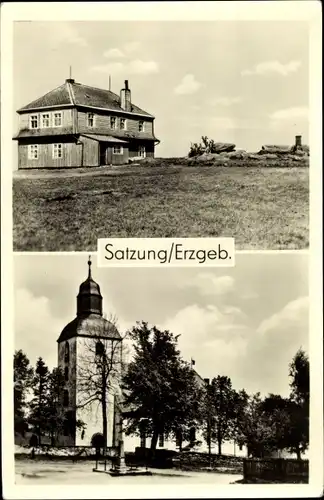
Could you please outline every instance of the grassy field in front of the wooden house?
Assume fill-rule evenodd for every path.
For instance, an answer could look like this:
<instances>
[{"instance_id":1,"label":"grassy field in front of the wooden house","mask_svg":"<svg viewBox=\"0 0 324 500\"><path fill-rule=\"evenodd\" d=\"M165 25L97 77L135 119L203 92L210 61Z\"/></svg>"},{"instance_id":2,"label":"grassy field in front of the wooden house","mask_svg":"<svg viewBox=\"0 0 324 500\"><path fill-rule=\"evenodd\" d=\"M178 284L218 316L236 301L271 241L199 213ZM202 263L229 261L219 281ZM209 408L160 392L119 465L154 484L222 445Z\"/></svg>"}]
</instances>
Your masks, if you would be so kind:
<instances>
[{"instance_id":1,"label":"grassy field in front of the wooden house","mask_svg":"<svg viewBox=\"0 0 324 500\"><path fill-rule=\"evenodd\" d=\"M15 251L95 251L97 238L235 238L242 249L308 247L309 169L119 167L13 180Z\"/></svg>"}]
</instances>

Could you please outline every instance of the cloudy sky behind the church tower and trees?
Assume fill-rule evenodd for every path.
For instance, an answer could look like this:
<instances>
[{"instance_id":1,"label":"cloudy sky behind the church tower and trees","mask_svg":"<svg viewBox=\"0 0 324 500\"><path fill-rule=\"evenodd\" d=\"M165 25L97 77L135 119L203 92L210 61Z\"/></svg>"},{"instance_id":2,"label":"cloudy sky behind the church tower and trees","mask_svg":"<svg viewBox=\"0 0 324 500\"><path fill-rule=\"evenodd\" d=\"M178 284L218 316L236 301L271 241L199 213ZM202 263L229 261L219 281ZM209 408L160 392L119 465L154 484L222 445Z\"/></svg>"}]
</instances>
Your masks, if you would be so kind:
<instances>
[{"instance_id":1,"label":"cloudy sky behind the church tower and trees","mask_svg":"<svg viewBox=\"0 0 324 500\"><path fill-rule=\"evenodd\" d=\"M15 256L15 349L56 365L63 327L76 314L87 255ZM308 257L237 254L223 269L97 268L104 311L122 333L148 321L181 334L179 347L203 377L228 375L236 389L286 395L288 364L308 350Z\"/></svg>"}]
</instances>

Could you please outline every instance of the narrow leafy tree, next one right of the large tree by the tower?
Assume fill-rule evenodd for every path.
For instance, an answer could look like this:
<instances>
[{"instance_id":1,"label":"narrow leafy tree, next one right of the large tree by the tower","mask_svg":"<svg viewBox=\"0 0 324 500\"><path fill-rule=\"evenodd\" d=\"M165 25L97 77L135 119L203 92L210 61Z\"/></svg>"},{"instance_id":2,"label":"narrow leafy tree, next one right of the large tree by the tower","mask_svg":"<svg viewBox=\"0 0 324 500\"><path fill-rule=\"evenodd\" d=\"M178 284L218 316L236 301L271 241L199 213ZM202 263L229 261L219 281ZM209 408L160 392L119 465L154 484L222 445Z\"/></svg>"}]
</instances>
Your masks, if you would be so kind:
<instances>
[{"instance_id":1,"label":"narrow leafy tree, next one right of the large tree by the tower","mask_svg":"<svg viewBox=\"0 0 324 500\"><path fill-rule=\"evenodd\" d=\"M212 440L217 442L218 454L222 454L222 444L234 434L236 391L229 377L218 375L209 387L209 403L213 412Z\"/></svg>"}]
</instances>

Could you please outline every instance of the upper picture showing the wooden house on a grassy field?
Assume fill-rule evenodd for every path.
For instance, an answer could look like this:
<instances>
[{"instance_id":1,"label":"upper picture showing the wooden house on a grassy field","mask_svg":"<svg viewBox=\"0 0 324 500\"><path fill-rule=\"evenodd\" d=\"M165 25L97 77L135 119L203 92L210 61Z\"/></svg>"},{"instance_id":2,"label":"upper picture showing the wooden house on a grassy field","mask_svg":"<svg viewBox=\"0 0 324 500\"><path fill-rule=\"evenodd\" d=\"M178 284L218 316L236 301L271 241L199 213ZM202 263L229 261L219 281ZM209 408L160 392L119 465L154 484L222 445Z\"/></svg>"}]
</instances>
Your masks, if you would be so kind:
<instances>
[{"instance_id":1,"label":"upper picture showing the wooden house on a grassy field","mask_svg":"<svg viewBox=\"0 0 324 500\"><path fill-rule=\"evenodd\" d=\"M309 50L306 21L15 22L14 251L307 249Z\"/></svg>"}]
</instances>

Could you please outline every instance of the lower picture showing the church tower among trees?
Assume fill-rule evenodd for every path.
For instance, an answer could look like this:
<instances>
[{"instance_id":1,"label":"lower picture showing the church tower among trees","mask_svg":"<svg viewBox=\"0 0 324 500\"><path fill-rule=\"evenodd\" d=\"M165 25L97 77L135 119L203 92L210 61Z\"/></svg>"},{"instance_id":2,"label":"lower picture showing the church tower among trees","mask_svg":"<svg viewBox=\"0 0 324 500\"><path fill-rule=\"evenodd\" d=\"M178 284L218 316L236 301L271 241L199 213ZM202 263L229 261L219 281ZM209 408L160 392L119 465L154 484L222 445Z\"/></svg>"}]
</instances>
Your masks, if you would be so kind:
<instances>
[{"instance_id":1,"label":"lower picture showing the church tower among trees","mask_svg":"<svg viewBox=\"0 0 324 500\"><path fill-rule=\"evenodd\" d=\"M17 484L308 482L307 254L14 274Z\"/></svg>"}]
</instances>

